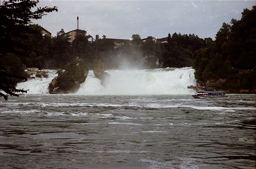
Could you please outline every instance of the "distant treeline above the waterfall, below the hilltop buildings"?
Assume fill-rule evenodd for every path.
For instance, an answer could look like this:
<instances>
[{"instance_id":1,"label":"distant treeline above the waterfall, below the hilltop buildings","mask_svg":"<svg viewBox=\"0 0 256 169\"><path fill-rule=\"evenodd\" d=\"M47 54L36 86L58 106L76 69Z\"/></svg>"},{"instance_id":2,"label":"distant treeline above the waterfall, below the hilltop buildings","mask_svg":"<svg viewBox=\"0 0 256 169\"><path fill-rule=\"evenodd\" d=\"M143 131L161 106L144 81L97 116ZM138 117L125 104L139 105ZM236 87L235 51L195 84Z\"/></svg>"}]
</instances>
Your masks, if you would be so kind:
<instances>
[{"instance_id":1,"label":"distant treeline above the waterfall, below the hilltop buildings","mask_svg":"<svg viewBox=\"0 0 256 169\"><path fill-rule=\"evenodd\" d=\"M169 34L168 43L153 41L151 36L143 42L134 34L131 43L115 48L114 42L105 36L89 42L83 32L77 32L71 43L63 29L51 38L41 33L39 25L29 27L32 31L25 37L13 37L17 45L13 44L11 50L1 50L1 63L7 65L15 55L27 68L40 69L64 68L75 57L83 59L88 68L95 59L102 60L107 69L119 69L125 64L129 68L186 67L192 66L193 53L206 47L206 40L194 34ZM207 42L212 43L212 39Z\"/></svg>"}]
</instances>

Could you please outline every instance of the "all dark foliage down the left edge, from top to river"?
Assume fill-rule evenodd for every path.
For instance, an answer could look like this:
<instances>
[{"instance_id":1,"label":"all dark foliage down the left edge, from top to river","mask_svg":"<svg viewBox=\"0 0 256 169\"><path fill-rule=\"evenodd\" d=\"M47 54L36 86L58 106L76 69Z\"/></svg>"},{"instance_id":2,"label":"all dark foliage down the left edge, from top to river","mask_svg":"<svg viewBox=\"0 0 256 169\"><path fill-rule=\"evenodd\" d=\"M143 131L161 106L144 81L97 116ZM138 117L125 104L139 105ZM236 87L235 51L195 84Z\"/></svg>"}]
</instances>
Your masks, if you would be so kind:
<instances>
[{"instance_id":1,"label":"all dark foliage down the left edge, from top to river","mask_svg":"<svg viewBox=\"0 0 256 169\"><path fill-rule=\"evenodd\" d=\"M8 0L3 1L0 5L0 56L10 57L8 53L14 53L15 55L24 58L23 50L26 49L22 43L25 39L28 39L29 34L34 31L29 24L31 19L41 19L46 13L57 11L57 8L37 8L32 11L38 4L38 0ZM34 55L34 53L31 53ZM9 67L17 67L15 62ZM19 68L18 68L19 69ZM8 95L19 96L17 92L26 92L25 90L16 89L16 84L19 81L26 80L21 75L12 74L11 70L1 63L0 65L0 96L4 99L8 99Z\"/></svg>"}]
</instances>

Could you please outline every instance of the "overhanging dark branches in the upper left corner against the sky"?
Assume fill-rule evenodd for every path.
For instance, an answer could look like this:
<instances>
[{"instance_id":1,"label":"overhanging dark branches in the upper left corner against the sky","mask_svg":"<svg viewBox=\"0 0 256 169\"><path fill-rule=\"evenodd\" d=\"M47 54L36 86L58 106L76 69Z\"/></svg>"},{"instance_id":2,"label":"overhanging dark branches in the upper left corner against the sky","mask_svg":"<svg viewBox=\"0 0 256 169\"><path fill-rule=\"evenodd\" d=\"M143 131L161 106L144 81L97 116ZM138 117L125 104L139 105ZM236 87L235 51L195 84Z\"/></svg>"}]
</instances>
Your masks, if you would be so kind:
<instances>
[{"instance_id":1,"label":"overhanging dark branches in the upper left corner against the sky","mask_svg":"<svg viewBox=\"0 0 256 169\"><path fill-rule=\"evenodd\" d=\"M46 13L57 11L57 8L35 8L39 0L8 0L0 6L0 41L1 53L13 53L14 47L19 45L15 38L27 38L31 28L31 19L41 19Z\"/></svg>"}]
</instances>

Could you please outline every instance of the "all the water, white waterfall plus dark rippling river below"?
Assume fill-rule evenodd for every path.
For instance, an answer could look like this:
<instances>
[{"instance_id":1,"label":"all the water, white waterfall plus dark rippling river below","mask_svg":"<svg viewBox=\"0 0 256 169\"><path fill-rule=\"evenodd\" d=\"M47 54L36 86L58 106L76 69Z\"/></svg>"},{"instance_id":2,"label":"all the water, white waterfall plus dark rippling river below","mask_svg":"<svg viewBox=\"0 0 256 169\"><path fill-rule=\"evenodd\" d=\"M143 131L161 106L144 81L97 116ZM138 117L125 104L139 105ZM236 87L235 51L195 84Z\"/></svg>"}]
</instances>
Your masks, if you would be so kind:
<instances>
[{"instance_id":1,"label":"all the water, white waterfall plus dark rippling river below","mask_svg":"<svg viewBox=\"0 0 256 169\"><path fill-rule=\"evenodd\" d=\"M104 87L90 72L62 95L45 90L54 73L19 84L0 98L0 168L255 169L256 94L195 99L190 73L109 71Z\"/></svg>"}]
</instances>

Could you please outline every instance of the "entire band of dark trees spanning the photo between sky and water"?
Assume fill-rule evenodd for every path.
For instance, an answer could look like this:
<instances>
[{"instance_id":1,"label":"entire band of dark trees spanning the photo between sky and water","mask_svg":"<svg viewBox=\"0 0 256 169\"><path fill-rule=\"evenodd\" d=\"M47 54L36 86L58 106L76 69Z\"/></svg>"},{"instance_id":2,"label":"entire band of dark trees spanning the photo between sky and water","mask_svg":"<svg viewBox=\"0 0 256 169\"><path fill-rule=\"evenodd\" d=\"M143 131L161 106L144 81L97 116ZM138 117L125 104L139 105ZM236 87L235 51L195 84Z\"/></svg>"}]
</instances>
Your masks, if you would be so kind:
<instances>
[{"instance_id":1,"label":"entire band of dark trees spanning the photo between sky and water","mask_svg":"<svg viewBox=\"0 0 256 169\"><path fill-rule=\"evenodd\" d=\"M256 6L244 9L240 20L223 23L215 41L175 32L167 35L167 43L160 43L151 36L142 41L139 34L133 34L131 43L115 48L105 36L89 42L78 33L71 43L63 29L53 38L43 35L41 26L31 23L31 19L41 19L57 7L32 12L37 3L5 1L0 6L0 89L6 93L16 91L17 79L26 80L26 68L65 69L76 57L83 59L89 69L94 60L102 60L105 69L192 66L202 84L215 78L222 79L217 89L256 91Z\"/></svg>"}]
</instances>

